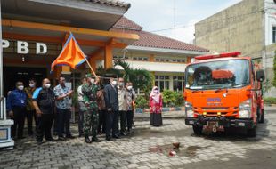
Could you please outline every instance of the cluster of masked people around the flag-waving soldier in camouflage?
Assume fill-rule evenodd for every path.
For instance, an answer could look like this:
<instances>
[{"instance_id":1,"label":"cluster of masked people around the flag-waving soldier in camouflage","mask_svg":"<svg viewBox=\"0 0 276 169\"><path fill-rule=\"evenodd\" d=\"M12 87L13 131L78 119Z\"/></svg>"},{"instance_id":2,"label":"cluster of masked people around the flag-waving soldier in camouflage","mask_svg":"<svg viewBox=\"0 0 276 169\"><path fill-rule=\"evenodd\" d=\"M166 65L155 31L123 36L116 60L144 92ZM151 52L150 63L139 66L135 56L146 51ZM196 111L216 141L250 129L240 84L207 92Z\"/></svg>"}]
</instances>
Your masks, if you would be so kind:
<instances>
[{"instance_id":1,"label":"cluster of masked people around the flag-waving soldier in camouflage","mask_svg":"<svg viewBox=\"0 0 276 169\"><path fill-rule=\"evenodd\" d=\"M105 133L106 140L110 141L132 132L136 97L133 84L125 84L124 78L113 77L110 77L110 84L99 83L99 78L87 75L77 88L78 132L79 136L85 136L86 143L100 141L97 134L101 133Z\"/></svg>"}]
</instances>

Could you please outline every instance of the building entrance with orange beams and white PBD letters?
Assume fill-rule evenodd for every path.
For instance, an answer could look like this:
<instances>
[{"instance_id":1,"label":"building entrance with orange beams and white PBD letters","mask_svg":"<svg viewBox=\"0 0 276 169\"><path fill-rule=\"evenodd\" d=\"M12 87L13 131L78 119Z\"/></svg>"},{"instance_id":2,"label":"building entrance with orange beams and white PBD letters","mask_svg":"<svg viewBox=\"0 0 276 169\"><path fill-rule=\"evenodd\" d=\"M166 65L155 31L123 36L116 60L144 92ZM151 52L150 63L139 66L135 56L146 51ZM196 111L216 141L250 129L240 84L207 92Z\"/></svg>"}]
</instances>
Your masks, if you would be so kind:
<instances>
[{"instance_id":1,"label":"building entrance with orange beams and white PBD letters","mask_svg":"<svg viewBox=\"0 0 276 169\"><path fill-rule=\"evenodd\" d=\"M30 77L49 77L56 84L58 76L66 76L69 85L89 71L83 64L76 70L68 66L50 67L61 52L69 33L93 64L102 53L105 68L111 68L112 51L124 49L139 39L138 35L110 32L110 28L129 9L120 1L87 0L14 0L2 2L4 49L4 95L20 80L28 85ZM47 9L47 10L45 10ZM73 77L73 78L71 78Z\"/></svg>"}]
</instances>

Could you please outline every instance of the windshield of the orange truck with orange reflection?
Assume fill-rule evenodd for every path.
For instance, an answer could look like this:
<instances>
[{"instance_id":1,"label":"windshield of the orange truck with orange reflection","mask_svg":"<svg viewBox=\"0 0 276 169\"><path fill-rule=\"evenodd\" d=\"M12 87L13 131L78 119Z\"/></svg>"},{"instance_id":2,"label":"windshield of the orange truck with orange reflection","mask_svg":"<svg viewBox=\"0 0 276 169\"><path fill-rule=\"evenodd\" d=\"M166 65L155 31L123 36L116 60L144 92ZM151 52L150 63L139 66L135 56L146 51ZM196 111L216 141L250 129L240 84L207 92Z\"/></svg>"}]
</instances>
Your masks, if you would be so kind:
<instances>
[{"instance_id":1,"label":"windshield of the orange truck with orange reflection","mask_svg":"<svg viewBox=\"0 0 276 169\"><path fill-rule=\"evenodd\" d=\"M222 89L249 84L248 60L220 60L186 68L185 87L191 90Z\"/></svg>"}]
</instances>

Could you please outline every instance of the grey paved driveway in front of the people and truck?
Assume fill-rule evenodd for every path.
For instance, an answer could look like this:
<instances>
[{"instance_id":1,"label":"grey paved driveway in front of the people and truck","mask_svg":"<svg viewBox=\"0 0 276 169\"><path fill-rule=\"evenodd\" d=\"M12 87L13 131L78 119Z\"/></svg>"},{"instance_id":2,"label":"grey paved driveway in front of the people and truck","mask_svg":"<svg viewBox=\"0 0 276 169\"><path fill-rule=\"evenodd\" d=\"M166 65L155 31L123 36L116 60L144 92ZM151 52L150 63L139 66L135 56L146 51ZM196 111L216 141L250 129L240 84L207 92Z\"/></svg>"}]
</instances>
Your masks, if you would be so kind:
<instances>
[{"instance_id":1,"label":"grey paved driveway in front of the people and truck","mask_svg":"<svg viewBox=\"0 0 276 169\"><path fill-rule=\"evenodd\" d=\"M149 115L135 116L134 133L117 141L85 144L84 138L45 142L33 139L0 151L0 168L276 168L276 112L266 112L256 138L242 132L193 135L183 112L164 113L162 127L150 127ZM77 132L77 125L73 127ZM179 149L173 143L180 142ZM171 150L176 155L170 156Z\"/></svg>"}]
</instances>

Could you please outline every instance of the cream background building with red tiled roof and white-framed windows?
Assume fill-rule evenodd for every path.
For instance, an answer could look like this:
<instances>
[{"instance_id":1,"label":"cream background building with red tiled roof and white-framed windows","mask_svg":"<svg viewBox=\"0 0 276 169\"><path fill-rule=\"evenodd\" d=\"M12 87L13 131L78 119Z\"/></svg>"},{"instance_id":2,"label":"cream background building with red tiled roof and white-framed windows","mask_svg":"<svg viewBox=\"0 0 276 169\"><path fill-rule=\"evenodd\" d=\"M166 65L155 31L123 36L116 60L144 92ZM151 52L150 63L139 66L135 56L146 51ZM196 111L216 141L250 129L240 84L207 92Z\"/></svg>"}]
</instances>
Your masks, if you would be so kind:
<instances>
[{"instance_id":1,"label":"cream background building with red tiled roof and white-framed windows","mask_svg":"<svg viewBox=\"0 0 276 169\"><path fill-rule=\"evenodd\" d=\"M126 60L132 68L145 68L155 76L155 84L164 89L183 92L184 71L194 56L206 54L207 49L186 44L166 36L142 30L125 17L110 29L112 32L137 34L139 40L124 50L114 50L113 60ZM120 68L118 68L120 69Z\"/></svg>"}]
</instances>

